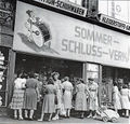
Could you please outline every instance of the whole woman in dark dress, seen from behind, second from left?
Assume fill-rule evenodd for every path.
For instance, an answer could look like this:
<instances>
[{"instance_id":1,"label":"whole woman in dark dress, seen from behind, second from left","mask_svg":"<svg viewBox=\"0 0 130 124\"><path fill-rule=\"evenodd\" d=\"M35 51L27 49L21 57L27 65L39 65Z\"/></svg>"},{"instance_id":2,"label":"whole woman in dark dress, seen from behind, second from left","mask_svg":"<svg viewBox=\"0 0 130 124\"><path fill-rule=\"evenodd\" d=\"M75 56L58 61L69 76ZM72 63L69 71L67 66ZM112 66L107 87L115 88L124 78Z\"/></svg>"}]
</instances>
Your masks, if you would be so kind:
<instances>
[{"instance_id":1,"label":"whole woman in dark dress, seen from behind, second from left","mask_svg":"<svg viewBox=\"0 0 130 124\"><path fill-rule=\"evenodd\" d=\"M25 89L25 118L28 119L28 111L30 110L29 119L32 120L34 111L37 109L37 101L39 100L38 80L35 79L34 73L29 73L29 79L26 81Z\"/></svg>"}]
</instances>

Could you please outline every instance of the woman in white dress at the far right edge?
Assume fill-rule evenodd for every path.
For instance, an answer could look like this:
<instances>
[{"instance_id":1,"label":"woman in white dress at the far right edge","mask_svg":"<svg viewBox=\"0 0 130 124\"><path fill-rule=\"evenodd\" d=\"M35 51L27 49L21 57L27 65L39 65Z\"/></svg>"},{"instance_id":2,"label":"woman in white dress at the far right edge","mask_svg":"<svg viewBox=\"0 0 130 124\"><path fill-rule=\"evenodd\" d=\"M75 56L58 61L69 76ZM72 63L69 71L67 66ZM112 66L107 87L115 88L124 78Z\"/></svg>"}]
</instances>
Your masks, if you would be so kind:
<instances>
[{"instance_id":1,"label":"woman in white dress at the far right edge","mask_svg":"<svg viewBox=\"0 0 130 124\"><path fill-rule=\"evenodd\" d=\"M121 108L125 110L125 116L129 116L129 109L130 109L130 99L129 99L129 89L128 86L125 84L122 89L120 91L121 95Z\"/></svg>"}]
</instances>

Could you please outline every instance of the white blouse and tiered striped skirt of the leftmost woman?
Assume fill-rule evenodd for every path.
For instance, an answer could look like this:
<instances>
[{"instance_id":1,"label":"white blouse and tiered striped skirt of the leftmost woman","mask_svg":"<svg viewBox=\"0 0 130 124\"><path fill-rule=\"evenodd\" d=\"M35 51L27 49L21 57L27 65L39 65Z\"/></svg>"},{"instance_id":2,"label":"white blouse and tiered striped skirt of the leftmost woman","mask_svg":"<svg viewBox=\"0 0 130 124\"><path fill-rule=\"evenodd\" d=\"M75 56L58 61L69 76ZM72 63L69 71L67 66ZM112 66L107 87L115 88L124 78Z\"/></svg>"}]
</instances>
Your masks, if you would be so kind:
<instances>
[{"instance_id":1,"label":"white blouse and tiered striped skirt of the leftmost woman","mask_svg":"<svg viewBox=\"0 0 130 124\"><path fill-rule=\"evenodd\" d=\"M17 78L14 81L14 92L11 101L11 109L23 109L24 108L24 93L23 89L26 84L26 79Z\"/></svg>"}]
</instances>

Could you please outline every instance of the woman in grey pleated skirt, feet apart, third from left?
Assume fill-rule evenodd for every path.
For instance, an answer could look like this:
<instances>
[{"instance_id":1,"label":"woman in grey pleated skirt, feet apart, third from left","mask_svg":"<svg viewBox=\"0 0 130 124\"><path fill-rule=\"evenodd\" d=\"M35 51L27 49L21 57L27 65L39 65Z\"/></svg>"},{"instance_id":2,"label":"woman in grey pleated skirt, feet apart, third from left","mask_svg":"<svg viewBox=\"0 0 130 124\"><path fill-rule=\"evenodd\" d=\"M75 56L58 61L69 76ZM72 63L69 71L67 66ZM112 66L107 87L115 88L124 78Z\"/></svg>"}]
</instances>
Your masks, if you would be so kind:
<instances>
[{"instance_id":1,"label":"woman in grey pleated skirt, feet apart, third from left","mask_svg":"<svg viewBox=\"0 0 130 124\"><path fill-rule=\"evenodd\" d=\"M44 88L46 95L43 98L41 118L38 121L43 121L44 113L50 114L48 121L51 121L52 114L55 112L55 104L57 104L56 88L52 78L49 79Z\"/></svg>"}]
</instances>

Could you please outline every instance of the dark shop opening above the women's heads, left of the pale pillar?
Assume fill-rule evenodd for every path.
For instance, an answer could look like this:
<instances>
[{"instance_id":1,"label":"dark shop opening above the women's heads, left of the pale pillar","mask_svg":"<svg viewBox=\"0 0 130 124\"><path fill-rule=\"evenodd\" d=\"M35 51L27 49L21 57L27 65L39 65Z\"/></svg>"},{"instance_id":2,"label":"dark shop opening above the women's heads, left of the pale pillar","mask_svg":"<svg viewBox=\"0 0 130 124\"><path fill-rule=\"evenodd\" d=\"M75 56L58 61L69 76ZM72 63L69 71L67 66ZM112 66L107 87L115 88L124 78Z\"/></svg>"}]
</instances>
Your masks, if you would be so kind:
<instances>
[{"instance_id":1,"label":"dark shop opening above the women's heads, left of the pale pillar","mask_svg":"<svg viewBox=\"0 0 130 124\"><path fill-rule=\"evenodd\" d=\"M17 53L15 73L21 71L46 75L56 71L61 79L66 75L70 79L82 78L82 63Z\"/></svg>"}]
</instances>

